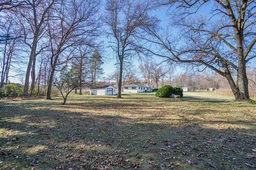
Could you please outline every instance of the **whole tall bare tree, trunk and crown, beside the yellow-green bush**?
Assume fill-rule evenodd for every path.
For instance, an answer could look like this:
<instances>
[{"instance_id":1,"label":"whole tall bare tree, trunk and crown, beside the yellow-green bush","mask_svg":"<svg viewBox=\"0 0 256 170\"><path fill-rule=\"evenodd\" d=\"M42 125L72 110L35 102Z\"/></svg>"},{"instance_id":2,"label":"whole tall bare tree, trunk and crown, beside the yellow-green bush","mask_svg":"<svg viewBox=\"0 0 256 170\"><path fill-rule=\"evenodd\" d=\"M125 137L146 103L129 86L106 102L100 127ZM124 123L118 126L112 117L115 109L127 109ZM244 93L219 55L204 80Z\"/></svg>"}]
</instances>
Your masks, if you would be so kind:
<instances>
[{"instance_id":1,"label":"whole tall bare tree, trunk and crown, beside the yellow-green bush","mask_svg":"<svg viewBox=\"0 0 256 170\"><path fill-rule=\"evenodd\" d=\"M30 48L29 61L26 71L25 84L24 84L24 96L29 95L29 77L31 72L31 86L35 84L35 65L36 65L36 50L37 44L41 36L44 34L45 23L47 13L49 12L52 5L56 2L51 1L37 1L29 0L22 3L22 6L12 8L12 12L17 15L17 20L20 24L23 32L24 43ZM31 40L31 41L30 41ZM42 50L42 49L40 49ZM40 51L39 50L39 51ZM39 52L38 52L39 53ZM31 71L32 69L32 71Z\"/></svg>"}]
</instances>

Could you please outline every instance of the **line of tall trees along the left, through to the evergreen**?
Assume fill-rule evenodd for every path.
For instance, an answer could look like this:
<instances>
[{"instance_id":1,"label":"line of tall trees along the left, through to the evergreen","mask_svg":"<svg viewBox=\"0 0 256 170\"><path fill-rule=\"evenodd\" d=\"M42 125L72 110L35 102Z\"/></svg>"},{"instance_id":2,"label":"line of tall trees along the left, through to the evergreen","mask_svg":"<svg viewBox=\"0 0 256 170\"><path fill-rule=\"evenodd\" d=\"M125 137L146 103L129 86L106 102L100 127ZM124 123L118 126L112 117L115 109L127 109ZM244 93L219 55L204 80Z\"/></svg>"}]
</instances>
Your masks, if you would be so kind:
<instances>
[{"instance_id":1,"label":"line of tall trees along the left, through to the evergreen","mask_svg":"<svg viewBox=\"0 0 256 170\"><path fill-rule=\"evenodd\" d=\"M79 78L76 88L95 85L103 74L97 44L100 1L4 1L0 6L0 88L10 76L20 77L22 96L51 99L53 84L67 69Z\"/></svg>"}]
</instances>

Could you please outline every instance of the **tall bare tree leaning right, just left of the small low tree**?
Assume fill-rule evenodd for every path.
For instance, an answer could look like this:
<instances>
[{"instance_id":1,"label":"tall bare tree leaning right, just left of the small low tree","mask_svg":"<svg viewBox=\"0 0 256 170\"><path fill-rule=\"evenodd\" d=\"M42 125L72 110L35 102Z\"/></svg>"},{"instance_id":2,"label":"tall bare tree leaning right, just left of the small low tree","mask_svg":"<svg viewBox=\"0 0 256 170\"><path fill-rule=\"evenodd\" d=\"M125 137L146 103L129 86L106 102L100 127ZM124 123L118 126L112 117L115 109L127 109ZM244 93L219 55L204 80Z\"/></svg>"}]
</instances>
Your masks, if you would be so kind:
<instances>
[{"instance_id":1,"label":"tall bare tree leaning right, just left of the small low tree","mask_svg":"<svg viewBox=\"0 0 256 170\"><path fill-rule=\"evenodd\" d=\"M51 99L52 82L58 66L66 64L79 45L93 46L98 35L98 0L62 0L54 6L54 20L48 20L47 34L50 38L51 71L46 99Z\"/></svg>"}]
</instances>

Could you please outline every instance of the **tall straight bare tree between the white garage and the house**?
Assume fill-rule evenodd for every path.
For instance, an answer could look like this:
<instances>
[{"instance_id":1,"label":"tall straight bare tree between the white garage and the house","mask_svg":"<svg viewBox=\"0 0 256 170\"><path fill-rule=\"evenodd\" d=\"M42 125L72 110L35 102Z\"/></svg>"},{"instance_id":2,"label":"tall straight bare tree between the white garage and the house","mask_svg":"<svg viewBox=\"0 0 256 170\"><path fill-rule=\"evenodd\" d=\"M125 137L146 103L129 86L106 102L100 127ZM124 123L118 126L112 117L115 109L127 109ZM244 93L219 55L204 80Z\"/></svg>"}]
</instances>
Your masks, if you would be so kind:
<instances>
[{"instance_id":1,"label":"tall straight bare tree between the white garage and the house","mask_svg":"<svg viewBox=\"0 0 256 170\"><path fill-rule=\"evenodd\" d=\"M109 27L107 35L114 38L114 40L110 41L110 46L116 53L119 63L117 98L121 98L124 61L132 56L134 50L137 50L134 48L134 44L137 42L135 37L139 33L142 21L147 18L149 7L148 1L106 1L106 17L104 21Z\"/></svg>"}]
</instances>

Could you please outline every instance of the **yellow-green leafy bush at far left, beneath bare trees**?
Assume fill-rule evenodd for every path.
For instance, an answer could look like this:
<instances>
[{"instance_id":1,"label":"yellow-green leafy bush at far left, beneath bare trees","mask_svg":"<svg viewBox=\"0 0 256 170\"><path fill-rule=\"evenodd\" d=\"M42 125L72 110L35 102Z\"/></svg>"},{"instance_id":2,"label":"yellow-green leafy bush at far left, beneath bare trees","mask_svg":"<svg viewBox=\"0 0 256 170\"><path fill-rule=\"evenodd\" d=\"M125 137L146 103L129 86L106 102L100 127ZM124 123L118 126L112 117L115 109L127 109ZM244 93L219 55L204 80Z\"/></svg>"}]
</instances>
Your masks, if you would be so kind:
<instances>
[{"instance_id":1,"label":"yellow-green leafy bush at far left, beneath bare trees","mask_svg":"<svg viewBox=\"0 0 256 170\"><path fill-rule=\"evenodd\" d=\"M4 97L20 97L22 95L22 87L17 87L14 84L5 84L4 86Z\"/></svg>"}]
</instances>

